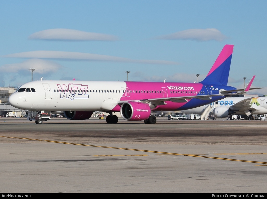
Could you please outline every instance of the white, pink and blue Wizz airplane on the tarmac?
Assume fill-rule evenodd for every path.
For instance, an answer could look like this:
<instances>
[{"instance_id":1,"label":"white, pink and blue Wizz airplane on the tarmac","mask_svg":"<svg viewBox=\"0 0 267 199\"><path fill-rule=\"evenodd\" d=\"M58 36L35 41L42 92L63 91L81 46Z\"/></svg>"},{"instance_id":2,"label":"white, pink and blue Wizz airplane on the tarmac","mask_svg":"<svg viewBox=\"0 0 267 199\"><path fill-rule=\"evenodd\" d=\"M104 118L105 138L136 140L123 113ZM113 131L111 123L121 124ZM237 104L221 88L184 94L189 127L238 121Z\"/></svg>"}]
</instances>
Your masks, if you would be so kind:
<instances>
[{"instance_id":1,"label":"white, pink and blue Wizz airplane on the tarmac","mask_svg":"<svg viewBox=\"0 0 267 199\"><path fill-rule=\"evenodd\" d=\"M106 118L109 124L118 122L113 112L120 112L124 120L155 124L156 117L151 111L191 109L249 91L255 76L244 90L227 86L233 47L223 47L200 83L41 79L23 84L8 101L24 110L62 112L70 120L89 119L94 111L105 111L109 113ZM42 124L42 120L36 124Z\"/></svg>"}]
</instances>

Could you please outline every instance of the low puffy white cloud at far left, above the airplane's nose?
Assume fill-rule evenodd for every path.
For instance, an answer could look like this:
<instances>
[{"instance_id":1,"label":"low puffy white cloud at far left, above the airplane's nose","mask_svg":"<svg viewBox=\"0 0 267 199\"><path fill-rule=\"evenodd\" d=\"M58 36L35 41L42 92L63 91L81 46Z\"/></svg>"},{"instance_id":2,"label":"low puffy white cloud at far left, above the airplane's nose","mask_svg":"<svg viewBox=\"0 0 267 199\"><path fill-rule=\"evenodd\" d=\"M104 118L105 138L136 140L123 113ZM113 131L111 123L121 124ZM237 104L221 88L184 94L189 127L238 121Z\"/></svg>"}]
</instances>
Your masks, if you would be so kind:
<instances>
[{"instance_id":1,"label":"low puffy white cloud at far left, above the airplane's nose","mask_svg":"<svg viewBox=\"0 0 267 199\"><path fill-rule=\"evenodd\" d=\"M60 68L63 68L63 66L42 59L29 59L22 63L5 64L3 66L0 66L0 70L2 72L10 72L10 73L26 71L31 68L35 68L34 73L46 74L46 73L56 72Z\"/></svg>"}]
</instances>

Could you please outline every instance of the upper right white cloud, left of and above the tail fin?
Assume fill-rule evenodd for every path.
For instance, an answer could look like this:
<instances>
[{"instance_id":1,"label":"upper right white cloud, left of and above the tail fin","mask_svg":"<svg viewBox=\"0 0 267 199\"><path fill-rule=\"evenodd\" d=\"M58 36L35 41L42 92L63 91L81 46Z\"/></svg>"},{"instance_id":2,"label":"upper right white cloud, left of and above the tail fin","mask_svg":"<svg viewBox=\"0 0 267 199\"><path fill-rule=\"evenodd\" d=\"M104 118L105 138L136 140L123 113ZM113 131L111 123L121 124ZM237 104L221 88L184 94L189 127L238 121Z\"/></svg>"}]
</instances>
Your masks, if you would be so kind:
<instances>
[{"instance_id":1,"label":"upper right white cloud, left of and above the tail fin","mask_svg":"<svg viewBox=\"0 0 267 199\"><path fill-rule=\"evenodd\" d=\"M208 28L208 29L183 30L173 34L159 36L156 39L166 39L166 40L190 39L198 41L208 41L208 40L222 41L228 38L217 29Z\"/></svg>"}]
</instances>

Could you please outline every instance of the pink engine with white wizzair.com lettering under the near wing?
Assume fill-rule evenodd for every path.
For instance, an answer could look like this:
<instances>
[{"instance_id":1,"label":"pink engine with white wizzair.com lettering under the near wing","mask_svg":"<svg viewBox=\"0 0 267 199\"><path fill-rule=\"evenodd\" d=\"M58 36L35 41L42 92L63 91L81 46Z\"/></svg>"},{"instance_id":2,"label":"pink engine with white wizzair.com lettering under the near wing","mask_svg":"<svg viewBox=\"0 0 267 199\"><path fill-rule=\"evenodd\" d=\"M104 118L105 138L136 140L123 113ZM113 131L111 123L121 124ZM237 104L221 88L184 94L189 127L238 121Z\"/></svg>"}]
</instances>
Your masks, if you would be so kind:
<instances>
[{"instance_id":1,"label":"pink engine with white wizzair.com lettering under the near wing","mask_svg":"<svg viewBox=\"0 0 267 199\"><path fill-rule=\"evenodd\" d=\"M149 105L141 102L128 101L120 107L120 115L124 120L146 120L150 113Z\"/></svg>"}]
</instances>

